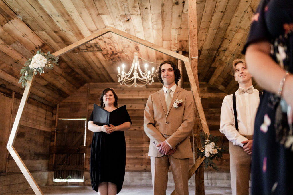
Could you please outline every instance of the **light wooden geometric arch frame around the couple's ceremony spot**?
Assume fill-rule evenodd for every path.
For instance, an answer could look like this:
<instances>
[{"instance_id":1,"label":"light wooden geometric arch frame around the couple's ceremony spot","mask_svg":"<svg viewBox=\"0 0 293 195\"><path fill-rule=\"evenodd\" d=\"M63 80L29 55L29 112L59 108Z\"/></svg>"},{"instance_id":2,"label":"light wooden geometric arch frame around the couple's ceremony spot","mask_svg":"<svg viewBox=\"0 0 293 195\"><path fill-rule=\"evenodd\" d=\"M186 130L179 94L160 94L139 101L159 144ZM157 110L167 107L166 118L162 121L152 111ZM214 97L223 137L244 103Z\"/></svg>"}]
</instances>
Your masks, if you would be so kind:
<instances>
[{"instance_id":1,"label":"light wooden geometric arch frame around the couple's ceremony spot","mask_svg":"<svg viewBox=\"0 0 293 195\"><path fill-rule=\"evenodd\" d=\"M73 49L75 49L75 48L77 48L77 47L79 47L79 46L81 46L81 45L83 45L83 44L85 44L87 42L90 42L93 39L96 39L96 38L98 38L98 37L100 37L100 36L102 36L102 35L104 35L104 34L106 34L108 32L113 32L113 33L115 33L117 35L120 35L121 37L125 37L125 38L130 39L130 40L132 40L134 42L137 42L139 44L142 44L144 46L147 46L147 47L149 47L151 49L154 49L156 51L159 51L159 52L161 52L163 54L166 54L168 56L174 57L174 58L184 62L185 68L187 70L188 78L189 78L189 81L190 81L191 89L192 89L192 92L193 92L193 97L194 97L194 100L195 100L195 103L196 103L197 111L198 111L199 116L200 116L200 121L201 121L201 124L202 124L203 131L205 133L209 134L207 121L206 121L206 118L205 118L205 114L203 112L202 104L201 104L201 101L200 101L200 96L199 96L199 93L198 93L198 90L197 90L197 86L196 86L196 83L195 83L195 78L194 78L193 71L191 69L190 61L189 61L188 57L180 55L180 54L177 54L177 53L175 53L175 52L173 52L171 50L165 49L165 48L163 48L161 46L158 46L156 44L148 42L148 41L146 41L144 39L140 39L140 38L138 38L138 37L136 37L134 35L128 34L126 32L123 32L121 30L118 30L116 28L109 27L109 26L107 26L103 30L100 30L99 32L96 32L96 33L94 33L94 34L92 34L92 35L90 35L88 37L85 37L84 39L81 39L81 40L79 40L79 41L77 41L77 42L75 42L75 43L73 43L73 44L71 44L71 45L69 45L67 47L64 47L63 49L60 49L59 51L54 52L52 55L54 55L56 57L61 56L62 54L65 54L68 51L71 51L71 50L73 50ZM25 103L28 100L28 96L30 94L30 89L31 89L33 80L34 80L34 77L33 77L33 79L31 81L27 82L27 86L26 86L26 88L25 88L25 90L23 92L21 103L19 105L19 108L18 108L18 111L17 111L17 114L16 114L16 118L15 118L15 121L13 123L13 127L12 127L12 130L11 130L11 134L10 134L10 137L9 137L9 140L8 140L6 148L8 149L8 151L11 154L11 156L13 157L14 161L16 162L16 164L20 168L21 172L25 176L26 180L28 181L28 183L32 187L32 189L35 192L35 194L43 194L41 189L40 189L40 187L38 186L37 182L34 180L33 176L28 171L28 168L25 166L25 164L21 160L21 158L18 155L16 149L13 147L15 139L16 139L16 135L17 135L17 132L18 132L18 129L19 129L21 116L23 114L23 109L24 109ZM193 164L193 166L189 170L188 179L190 179L190 177L194 174L194 172L197 170L197 168L200 166L200 164L202 163L203 160L204 160L204 158L199 157L195 161L195 163Z\"/></svg>"}]
</instances>

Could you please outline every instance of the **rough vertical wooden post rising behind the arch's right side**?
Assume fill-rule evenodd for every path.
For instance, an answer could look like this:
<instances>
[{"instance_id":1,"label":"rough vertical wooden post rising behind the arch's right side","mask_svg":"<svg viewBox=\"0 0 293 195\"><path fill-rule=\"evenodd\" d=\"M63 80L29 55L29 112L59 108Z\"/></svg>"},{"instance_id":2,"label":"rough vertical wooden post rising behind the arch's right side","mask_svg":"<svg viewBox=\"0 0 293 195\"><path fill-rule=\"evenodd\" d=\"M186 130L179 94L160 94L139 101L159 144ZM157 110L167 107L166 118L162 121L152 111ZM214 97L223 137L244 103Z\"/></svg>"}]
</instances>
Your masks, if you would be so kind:
<instances>
[{"instance_id":1,"label":"rough vertical wooden post rising behind the arch's right side","mask_svg":"<svg viewBox=\"0 0 293 195\"><path fill-rule=\"evenodd\" d=\"M196 23L196 0L188 0L188 25L189 25L189 57L190 65L193 71L193 76L196 82L197 91L200 93L198 76L197 76L197 23ZM195 124L194 124L194 148L201 146L200 143L200 130L202 129L200 116L197 109L195 109ZM197 152L194 153L195 159L198 158ZM205 182L203 173L203 163L195 171L195 194L201 195L205 194Z\"/></svg>"}]
</instances>

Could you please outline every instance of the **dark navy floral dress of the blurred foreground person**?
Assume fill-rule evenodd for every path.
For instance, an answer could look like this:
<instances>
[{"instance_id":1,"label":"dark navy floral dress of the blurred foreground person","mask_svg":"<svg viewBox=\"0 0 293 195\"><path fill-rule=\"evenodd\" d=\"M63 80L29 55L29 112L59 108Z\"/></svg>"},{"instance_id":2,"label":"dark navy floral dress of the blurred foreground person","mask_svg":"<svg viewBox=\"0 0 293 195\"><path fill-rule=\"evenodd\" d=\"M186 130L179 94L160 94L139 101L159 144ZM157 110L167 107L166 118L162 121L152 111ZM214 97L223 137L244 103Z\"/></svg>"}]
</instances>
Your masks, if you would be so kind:
<instances>
[{"instance_id":1,"label":"dark navy floral dress of the blurred foreground person","mask_svg":"<svg viewBox=\"0 0 293 195\"><path fill-rule=\"evenodd\" d=\"M261 0L252 18L247 43L269 41L271 57L293 73L293 1ZM261 73L260 73L261 74ZM273 74L273 73L272 73ZM285 101L264 91L255 118L252 194L293 194L292 134ZM292 127L292 126L291 126Z\"/></svg>"}]
</instances>

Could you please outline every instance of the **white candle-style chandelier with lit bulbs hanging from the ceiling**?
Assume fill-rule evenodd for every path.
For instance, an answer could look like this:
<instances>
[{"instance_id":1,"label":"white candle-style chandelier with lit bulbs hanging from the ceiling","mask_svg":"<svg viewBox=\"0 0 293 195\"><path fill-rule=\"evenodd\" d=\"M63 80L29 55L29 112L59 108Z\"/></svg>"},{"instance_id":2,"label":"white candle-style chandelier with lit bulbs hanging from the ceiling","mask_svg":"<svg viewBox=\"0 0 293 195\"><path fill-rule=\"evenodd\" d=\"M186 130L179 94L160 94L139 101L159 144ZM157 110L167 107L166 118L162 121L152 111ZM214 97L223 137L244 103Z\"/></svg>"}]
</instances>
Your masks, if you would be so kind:
<instances>
[{"instance_id":1,"label":"white candle-style chandelier with lit bulbs hanging from the ceiling","mask_svg":"<svg viewBox=\"0 0 293 195\"><path fill-rule=\"evenodd\" d=\"M146 84L151 84L152 82L154 82L154 70L155 68L152 67L151 72L149 70L147 70L147 64L144 65L145 70L144 73L142 72L142 70L140 69L139 66L139 61L138 61L138 54L135 53L134 54L134 58L133 58L133 62L131 65L131 68L129 70L128 73L126 73L124 71L125 65L122 64L122 72L120 73L120 67L118 67L118 82L122 85L123 83L125 85L127 85L128 87L134 85L135 87L137 87L137 85L139 87L142 87ZM132 75L132 71L134 69L134 73ZM142 84L138 84L137 80L139 80L140 82L142 82ZM130 82L134 81L132 84L130 84Z\"/></svg>"}]
</instances>

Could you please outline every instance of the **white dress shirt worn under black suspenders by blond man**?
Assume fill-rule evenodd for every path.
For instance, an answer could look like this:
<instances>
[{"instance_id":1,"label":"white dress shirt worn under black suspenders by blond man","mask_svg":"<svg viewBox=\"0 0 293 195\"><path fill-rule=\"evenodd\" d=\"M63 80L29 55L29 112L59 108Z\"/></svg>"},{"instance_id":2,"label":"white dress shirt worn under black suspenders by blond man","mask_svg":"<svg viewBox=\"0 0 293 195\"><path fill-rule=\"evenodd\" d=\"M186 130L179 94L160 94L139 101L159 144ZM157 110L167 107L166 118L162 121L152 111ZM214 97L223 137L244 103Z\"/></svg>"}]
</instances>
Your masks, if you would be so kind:
<instances>
[{"instance_id":1,"label":"white dress shirt worn under black suspenders by blond man","mask_svg":"<svg viewBox=\"0 0 293 195\"><path fill-rule=\"evenodd\" d=\"M220 132L224 133L234 145L241 147L244 145L241 141L247 140L242 135L253 135L254 120L259 105L259 91L251 87L252 94L247 92L239 94L238 90L235 92L239 132L235 128L232 94L225 96L221 108Z\"/></svg>"}]
</instances>

